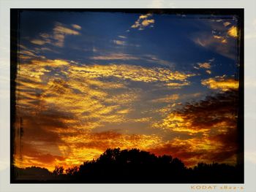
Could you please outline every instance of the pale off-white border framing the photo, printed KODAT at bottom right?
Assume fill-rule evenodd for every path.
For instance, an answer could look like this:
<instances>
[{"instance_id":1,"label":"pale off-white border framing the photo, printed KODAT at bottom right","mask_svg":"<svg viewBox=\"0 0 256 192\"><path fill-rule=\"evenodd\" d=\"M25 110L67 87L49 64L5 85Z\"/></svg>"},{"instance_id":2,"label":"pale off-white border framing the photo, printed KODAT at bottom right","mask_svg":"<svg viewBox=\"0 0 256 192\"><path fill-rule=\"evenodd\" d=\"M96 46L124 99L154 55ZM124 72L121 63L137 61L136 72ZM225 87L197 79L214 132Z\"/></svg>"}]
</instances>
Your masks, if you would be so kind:
<instances>
[{"instance_id":1,"label":"pale off-white border framing the photo, printed KODAT at bottom right","mask_svg":"<svg viewBox=\"0 0 256 192\"><path fill-rule=\"evenodd\" d=\"M10 184L10 8L244 8L245 184L228 186L244 187L244 190L229 191L256 191L255 7L255 0L0 0L0 192L205 191L192 189L192 184ZM218 184L217 188L219 186L222 185Z\"/></svg>"}]
</instances>

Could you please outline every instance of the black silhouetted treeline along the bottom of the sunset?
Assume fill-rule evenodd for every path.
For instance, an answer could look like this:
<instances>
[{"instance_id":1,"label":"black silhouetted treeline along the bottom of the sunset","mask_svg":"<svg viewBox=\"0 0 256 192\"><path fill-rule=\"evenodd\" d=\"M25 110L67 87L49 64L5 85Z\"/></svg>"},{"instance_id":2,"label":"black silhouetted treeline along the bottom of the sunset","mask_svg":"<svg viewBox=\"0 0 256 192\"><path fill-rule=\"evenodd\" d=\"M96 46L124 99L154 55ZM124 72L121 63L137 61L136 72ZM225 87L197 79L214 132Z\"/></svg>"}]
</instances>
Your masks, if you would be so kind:
<instances>
[{"instance_id":1,"label":"black silhouetted treeline along the bottom of the sunset","mask_svg":"<svg viewBox=\"0 0 256 192\"><path fill-rule=\"evenodd\" d=\"M15 168L16 182L46 183L244 183L242 166L198 163L187 168L178 158L143 150L108 149L94 161L64 170Z\"/></svg>"}]
</instances>

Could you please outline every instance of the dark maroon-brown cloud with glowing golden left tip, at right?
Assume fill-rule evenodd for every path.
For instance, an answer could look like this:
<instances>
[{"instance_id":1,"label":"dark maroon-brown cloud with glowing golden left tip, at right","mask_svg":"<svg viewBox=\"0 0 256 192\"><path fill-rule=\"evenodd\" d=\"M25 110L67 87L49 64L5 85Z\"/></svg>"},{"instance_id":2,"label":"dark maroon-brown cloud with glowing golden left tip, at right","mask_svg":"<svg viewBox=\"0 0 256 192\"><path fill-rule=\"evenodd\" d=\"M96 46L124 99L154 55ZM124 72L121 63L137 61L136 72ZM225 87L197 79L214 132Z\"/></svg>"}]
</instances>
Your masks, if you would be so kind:
<instances>
[{"instance_id":1,"label":"dark maroon-brown cloud with glowing golden left tip, at right","mask_svg":"<svg viewBox=\"0 0 256 192\"><path fill-rule=\"evenodd\" d=\"M217 100L221 99L221 100ZM187 104L181 110L170 112L155 127L190 134L208 132L211 128L236 128L237 91L226 91L209 96L203 101Z\"/></svg>"}]
</instances>

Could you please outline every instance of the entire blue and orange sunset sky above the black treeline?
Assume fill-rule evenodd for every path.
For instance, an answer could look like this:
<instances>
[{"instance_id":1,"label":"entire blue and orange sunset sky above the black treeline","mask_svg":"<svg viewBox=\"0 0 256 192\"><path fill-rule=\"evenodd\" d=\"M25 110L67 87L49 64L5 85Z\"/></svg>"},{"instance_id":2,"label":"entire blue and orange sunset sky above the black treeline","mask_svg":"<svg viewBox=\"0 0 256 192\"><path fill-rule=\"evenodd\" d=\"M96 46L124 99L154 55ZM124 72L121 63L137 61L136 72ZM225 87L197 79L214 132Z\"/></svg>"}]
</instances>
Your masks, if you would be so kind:
<instances>
[{"instance_id":1,"label":"entire blue and orange sunset sky above the black treeline","mask_svg":"<svg viewBox=\"0 0 256 192\"><path fill-rule=\"evenodd\" d=\"M20 14L15 165L78 166L107 148L236 164L234 15Z\"/></svg>"}]
</instances>

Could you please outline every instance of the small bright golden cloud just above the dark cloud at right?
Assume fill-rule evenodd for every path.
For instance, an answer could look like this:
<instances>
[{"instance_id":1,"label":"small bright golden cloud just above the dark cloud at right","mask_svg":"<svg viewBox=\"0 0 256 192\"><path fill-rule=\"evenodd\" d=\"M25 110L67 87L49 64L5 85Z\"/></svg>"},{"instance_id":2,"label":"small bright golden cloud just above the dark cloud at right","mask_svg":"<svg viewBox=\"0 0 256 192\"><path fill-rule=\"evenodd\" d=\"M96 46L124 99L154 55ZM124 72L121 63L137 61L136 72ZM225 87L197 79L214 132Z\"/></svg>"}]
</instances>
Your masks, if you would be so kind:
<instances>
[{"instance_id":1,"label":"small bright golden cloud just above the dark cloud at right","mask_svg":"<svg viewBox=\"0 0 256 192\"><path fill-rule=\"evenodd\" d=\"M201 80L202 85L208 86L211 89L219 89L228 91L230 89L238 89L238 80L227 78L225 75Z\"/></svg>"}]
</instances>

